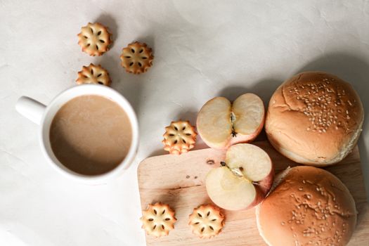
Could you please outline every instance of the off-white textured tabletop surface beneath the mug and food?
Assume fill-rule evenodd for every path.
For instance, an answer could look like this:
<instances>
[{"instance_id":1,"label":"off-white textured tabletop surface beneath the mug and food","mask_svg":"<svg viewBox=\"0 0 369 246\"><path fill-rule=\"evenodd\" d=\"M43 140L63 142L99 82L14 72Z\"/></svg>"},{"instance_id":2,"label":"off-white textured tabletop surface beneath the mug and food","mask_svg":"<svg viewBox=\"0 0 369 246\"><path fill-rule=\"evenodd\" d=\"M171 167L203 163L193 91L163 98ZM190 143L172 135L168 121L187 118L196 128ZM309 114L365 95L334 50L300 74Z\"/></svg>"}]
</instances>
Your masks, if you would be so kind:
<instances>
[{"instance_id":1,"label":"off-white textured tabletop surface beneath the mug and food","mask_svg":"<svg viewBox=\"0 0 369 246\"><path fill-rule=\"evenodd\" d=\"M114 44L92 58L76 35L96 20L110 27ZM136 40L155 54L138 76L119 65L121 49ZM56 173L41 155L39 128L14 109L22 95L47 104L91 62L108 69L141 128L136 162L105 186ZM332 72L360 94L369 190L368 1L0 0L0 245L144 245L136 168L163 153L164 127L179 117L194 123L218 95L252 91L268 103L283 80L304 70Z\"/></svg>"}]
</instances>

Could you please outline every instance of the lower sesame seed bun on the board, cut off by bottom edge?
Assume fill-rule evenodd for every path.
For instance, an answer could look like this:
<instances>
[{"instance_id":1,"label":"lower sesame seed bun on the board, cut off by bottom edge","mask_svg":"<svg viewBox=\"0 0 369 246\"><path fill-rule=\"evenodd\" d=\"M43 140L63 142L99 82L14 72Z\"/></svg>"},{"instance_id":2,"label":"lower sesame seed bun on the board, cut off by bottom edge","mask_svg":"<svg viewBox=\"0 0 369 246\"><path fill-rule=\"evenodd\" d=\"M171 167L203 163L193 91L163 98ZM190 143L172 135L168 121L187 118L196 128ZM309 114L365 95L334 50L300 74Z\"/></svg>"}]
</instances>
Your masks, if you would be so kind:
<instances>
[{"instance_id":1,"label":"lower sesame seed bun on the board, cut off by bottom edge","mask_svg":"<svg viewBox=\"0 0 369 246\"><path fill-rule=\"evenodd\" d=\"M256 209L269 246L347 245L356 226L354 198L339 179L317 167L292 167Z\"/></svg>"}]
</instances>

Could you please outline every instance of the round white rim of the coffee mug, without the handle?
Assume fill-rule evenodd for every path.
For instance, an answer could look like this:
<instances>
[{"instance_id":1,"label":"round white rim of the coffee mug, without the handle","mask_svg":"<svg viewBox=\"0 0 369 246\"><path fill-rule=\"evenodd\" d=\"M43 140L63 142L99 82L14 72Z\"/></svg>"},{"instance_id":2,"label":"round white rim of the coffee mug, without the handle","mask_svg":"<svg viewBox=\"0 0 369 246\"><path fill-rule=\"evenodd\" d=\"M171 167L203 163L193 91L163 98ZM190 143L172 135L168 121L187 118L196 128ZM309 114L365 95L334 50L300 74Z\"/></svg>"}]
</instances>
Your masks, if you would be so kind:
<instances>
[{"instance_id":1,"label":"round white rim of the coffee mug, without the handle","mask_svg":"<svg viewBox=\"0 0 369 246\"><path fill-rule=\"evenodd\" d=\"M118 97L119 100L121 100L123 103L119 103L119 102L115 101L112 98L110 98L110 99L112 101L115 101L115 103L117 103L119 105L119 107L121 107L127 113L127 116L129 117L129 121L131 123L132 140L131 140L131 146L129 148L129 151L128 151L126 157L124 157L124 160L122 160L122 162L120 162L117 165L117 167L115 167L114 169L112 169L110 171L107 171L104 174L84 175L84 174L79 174L75 171L72 171L71 169L68 169L61 162L58 161L58 159L53 154L53 150L51 150L50 148L49 149L46 148L46 145L45 145L45 142L44 142L44 136L45 136L45 129L44 129L45 124L44 123L45 123L46 117L53 119L53 117L56 115L56 112L58 112L58 110L60 110L60 107L62 105L64 105L65 103L67 103L67 101L70 101L72 98L65 101L58 108L58 110L56 110L55 113L50 115L49 114L50 110L53 109L54 107L56 107L56 101L58 101L60 99L60 97L62 97L63 95L65 95L67 93L70 93L71 91L82 90L82 89L85 89L86 91L91 91L91 90L96 91L96 89L97 89L98 92L97 93L96 92L81 93L78 96L97 95L97 96L103 96L103 97L110 98L110 96L107 96L107 94L110 94L112 96ZM99 93L101 91L104 91L104 93ZM73 98L76 98L76 97L77 96L74 96ZM47 139L48 139L48 141L50 141L49 136L48 136L49 128L46 129L46 130L48 130L47 131ZM44 110L44 114L41 117L41 124L40 124L40 131L39 131L39 143L41 145L41 151L44 154L44 156L46 157L46 160L48 160L48 162L51 163L51 166L54 167L54 169L56 169L56 171L58 171L60 174L63 174L64 176L75 179L76 181L80 181L82 183L90 183L90 184L106 183L108 180L112 179L112 177L121 174L124 171L124 169L127 169L129 167L129 165L131 164L131 162L134 161L134 157L136 156L136 151L137 151L137 148L138 148L138 121L137 121L137 117L136 117L136 112L134 112L134 109L132 108L131 104L129 103L129 101L127 101L126 98L124 98L124 96L122 96L122 94L120 94L119 92L115 91L115 89L112 89L108 86L103 86L103 85L100 85L100 84L82 84L82 85L79 85L79 86L73 86L73 87L71 87L69 89L66 89L65 91L62 91L61 93L59 93L46 106L46 108ZM55 157L54 159L56 159L56 160L53 160L51 155L53 155ZM58 163L56 163L56 161Z\"/></svg>"}]
</instances>

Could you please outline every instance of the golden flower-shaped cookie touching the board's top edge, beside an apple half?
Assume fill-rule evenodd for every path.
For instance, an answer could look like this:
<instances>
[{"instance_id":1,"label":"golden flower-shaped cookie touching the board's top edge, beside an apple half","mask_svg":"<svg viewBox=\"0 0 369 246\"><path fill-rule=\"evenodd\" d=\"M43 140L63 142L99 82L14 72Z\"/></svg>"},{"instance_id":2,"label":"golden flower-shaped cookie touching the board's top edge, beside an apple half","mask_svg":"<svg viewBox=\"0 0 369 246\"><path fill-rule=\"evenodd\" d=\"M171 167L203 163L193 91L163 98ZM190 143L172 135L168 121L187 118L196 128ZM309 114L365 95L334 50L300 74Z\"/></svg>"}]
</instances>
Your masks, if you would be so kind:
<instances>
[{"instance_id":1,"label":"golden flower-shaped cookie touching the board's top edge, beside an apple half","mask_svg":"<svg viewBox=\"0 0 369 246\"><path fill-rule=\"evenodd\" d=\"M195 127L188 121L171 122L169 127L165 127L165 134L162 143L164 150L171 154L181 155L193 148L196 141Z\"/></svg>"}]
</instances>

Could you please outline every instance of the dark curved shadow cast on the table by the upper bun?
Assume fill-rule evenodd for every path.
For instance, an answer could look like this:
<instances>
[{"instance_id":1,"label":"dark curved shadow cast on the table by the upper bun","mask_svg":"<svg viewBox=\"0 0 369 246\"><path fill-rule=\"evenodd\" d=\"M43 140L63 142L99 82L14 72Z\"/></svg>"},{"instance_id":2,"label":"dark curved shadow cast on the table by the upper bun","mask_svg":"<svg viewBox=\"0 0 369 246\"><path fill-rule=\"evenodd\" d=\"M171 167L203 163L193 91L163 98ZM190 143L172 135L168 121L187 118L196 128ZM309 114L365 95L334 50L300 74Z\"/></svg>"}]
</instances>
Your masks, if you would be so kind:
<instances>
[{"instance_id":1,"label":"dark curved shadow cast on the table by the upper bun","mask_svg":"<svg viewBox=\"0 0 369 246\"><path fill-rule=\"evenodd\" d=\"M363 103L364 115L369 114L369 63L365 62L365 60L357 56L353 56L350 53L327 53L307 63L296 73L309 70L329 72L352 84ZM369 174L368 150L366 149L365 142L363 140L363 135L366 136L369 134L368 127L369 121L368 119L364 119L362 136L358 141L363 174ZM365 189L368 194L368 180L365 180ZM369 198L367 197L367 199Z\"/></svg>"}]
</instances>

